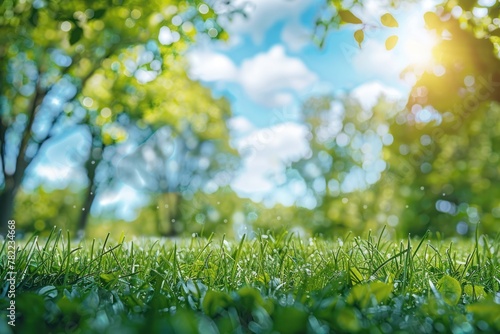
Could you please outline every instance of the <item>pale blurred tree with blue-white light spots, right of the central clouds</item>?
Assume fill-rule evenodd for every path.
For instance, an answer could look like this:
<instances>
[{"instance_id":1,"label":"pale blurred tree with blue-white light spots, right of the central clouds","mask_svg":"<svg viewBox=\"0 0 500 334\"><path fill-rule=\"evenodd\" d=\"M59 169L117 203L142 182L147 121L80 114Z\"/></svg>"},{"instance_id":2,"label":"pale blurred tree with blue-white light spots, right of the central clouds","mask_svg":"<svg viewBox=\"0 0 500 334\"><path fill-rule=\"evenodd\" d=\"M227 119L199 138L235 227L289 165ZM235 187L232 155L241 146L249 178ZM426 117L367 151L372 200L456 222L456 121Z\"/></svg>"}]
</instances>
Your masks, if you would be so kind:
<instances>
[{"instance_id":1,"label":"pale blurred tree with blue-white light spots, right of the central clouds","mask_svg":"<svg viewBox=\"0 0 500 334\"><path fill-rule=\"evenodd\" d=\"M312 155L292 169L314 198L315 213L307 220L312 232L360 233L386 223L387 215L379 214L388 211L387 205L374 189L386 168L383 147L392 143L389 124L400 108L383 94L375 106L350 94L316 96L304 103Z\"/></svg>"}]
</instances>

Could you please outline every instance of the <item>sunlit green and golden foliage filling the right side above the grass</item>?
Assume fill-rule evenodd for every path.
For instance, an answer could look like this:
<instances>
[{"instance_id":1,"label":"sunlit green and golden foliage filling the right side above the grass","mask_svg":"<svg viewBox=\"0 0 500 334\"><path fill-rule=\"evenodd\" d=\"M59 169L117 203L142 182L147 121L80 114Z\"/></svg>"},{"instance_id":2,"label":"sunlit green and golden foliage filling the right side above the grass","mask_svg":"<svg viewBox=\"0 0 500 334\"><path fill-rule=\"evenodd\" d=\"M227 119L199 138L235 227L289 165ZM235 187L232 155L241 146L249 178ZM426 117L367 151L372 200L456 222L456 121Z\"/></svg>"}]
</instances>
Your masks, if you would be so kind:
<instances>
[{"instance_id":1,"label":"sunlit green and golden foliage filling the right side above the grass","mask_svg":"<svg viewBox=\"0 0 500 334\"><path fill-rule=\"evenodd\" d=\"M316 198L311 220L322 223L314 231L359 233L389 224L400 235L428 229L472 235L480 223L487 232L498 230L499 9L484 7L487 15L478 17L475 4L448 1L424 15L437 44L432 63L401 74L412 84L406 107L380 96L363 110L341 94L303 105L313 154L293 168ZM361 46L369 26L342 2L331 7L338 15L329 29L360 26L354 38ZM354 2L352 10L362 7ZM390 13L381 24L398 26ZM388 38L387 49L397 38ZM348 177L356 189L343 187Z\"/></svg>"}]
</instances>

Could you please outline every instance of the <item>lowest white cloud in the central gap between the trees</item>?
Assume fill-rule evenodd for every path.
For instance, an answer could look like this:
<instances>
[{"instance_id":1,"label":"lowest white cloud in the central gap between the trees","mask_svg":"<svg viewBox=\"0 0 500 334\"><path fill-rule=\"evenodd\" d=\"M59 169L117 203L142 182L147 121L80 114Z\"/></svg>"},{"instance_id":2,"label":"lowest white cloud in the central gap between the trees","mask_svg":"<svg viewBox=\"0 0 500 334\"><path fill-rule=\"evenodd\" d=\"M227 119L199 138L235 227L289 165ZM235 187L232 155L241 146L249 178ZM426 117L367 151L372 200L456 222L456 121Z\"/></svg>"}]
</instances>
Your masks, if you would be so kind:
<instances>
[{"instance_id":1,"label":"lowest white cloud in the central gap between the trees","mask_svg":"<svg viewBox=\"0 0 500 334\"><path fill-rule=\"evenodd\" d=\"M259 196L283 183L285 167L310 152L306 126L287 122L258 129L237 142L242 170L232 188L242 195Z\"/></svg>"}]
</instances>

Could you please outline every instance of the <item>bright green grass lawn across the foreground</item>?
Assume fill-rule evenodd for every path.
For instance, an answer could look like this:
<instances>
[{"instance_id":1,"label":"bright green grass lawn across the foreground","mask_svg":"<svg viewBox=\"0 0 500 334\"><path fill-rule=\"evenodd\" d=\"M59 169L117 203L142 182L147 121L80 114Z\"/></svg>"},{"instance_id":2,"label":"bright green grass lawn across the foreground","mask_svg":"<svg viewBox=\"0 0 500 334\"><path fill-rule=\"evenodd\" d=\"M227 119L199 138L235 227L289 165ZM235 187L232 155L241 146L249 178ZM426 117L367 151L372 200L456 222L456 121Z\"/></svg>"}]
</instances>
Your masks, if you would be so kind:
<instances>
[{"instance_id":1,"label":"bright green grass lawn across the foreground","mask_svg":"<svg viewBox=\"0 0 500 334\"><path fill-rule=\"evenodd\" d=\"M500 331L500 237L19 243L19 333ZM0 251L6 277L7 247Z\"/></svg>"}]
</instances>

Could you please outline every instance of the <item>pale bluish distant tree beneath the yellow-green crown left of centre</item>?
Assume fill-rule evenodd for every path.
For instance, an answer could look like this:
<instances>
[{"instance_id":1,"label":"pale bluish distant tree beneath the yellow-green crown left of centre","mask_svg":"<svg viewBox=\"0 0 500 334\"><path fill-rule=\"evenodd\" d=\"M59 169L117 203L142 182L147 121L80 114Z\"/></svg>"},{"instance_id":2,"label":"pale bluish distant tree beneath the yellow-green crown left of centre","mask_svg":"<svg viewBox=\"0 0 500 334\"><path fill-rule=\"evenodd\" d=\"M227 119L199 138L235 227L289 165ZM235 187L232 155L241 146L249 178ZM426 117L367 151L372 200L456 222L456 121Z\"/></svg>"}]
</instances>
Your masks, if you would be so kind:
<instances>
[{"instance_id":1,"label":"pale bluish distant tree beneath the yellow-green crown left of centre","mask_svg":"<svg viewBox=\"0 0 500 334\"><path fill-rule=\"evenodd\" d=\"M202 96L192 101L203 103ZM214 108L213 102L206 107ZM226 105L225 101L220 102ZM202 212L205 202L211 201L202 194L228 185L237 159L229 147L225 127L220 126L223 122L223 117L216 117L206 125L211 129L200 133L194 132L187 122L179 131L163 127L118 164L117 175L121 180L148 191L152 197L150 208L156 211L160 235L173 236L185 230L190 221L186 207Z\"/></svg>"}]
</instances>

